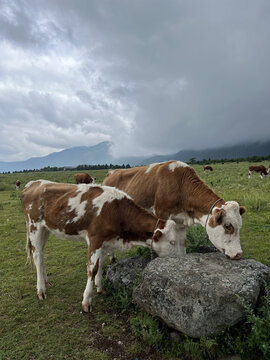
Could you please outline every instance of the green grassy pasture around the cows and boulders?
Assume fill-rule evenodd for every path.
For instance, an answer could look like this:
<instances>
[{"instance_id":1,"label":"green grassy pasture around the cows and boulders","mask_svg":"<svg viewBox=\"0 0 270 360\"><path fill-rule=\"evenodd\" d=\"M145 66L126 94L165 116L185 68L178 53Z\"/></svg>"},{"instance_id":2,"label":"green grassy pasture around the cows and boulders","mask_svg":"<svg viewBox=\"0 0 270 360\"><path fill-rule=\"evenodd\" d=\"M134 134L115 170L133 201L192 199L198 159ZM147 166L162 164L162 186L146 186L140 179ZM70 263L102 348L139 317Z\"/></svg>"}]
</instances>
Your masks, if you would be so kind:
<instances>
[{"instance_id":1,"label":"green grassy pasture around the cows and boulders","mask_svg":"<svg viewBox=\"0 0 270 360\"><path fill-rule=\"evenodd\" d=\"M249 165L214 164L213 172L204 172L202 165L193 167L220 197L246 207L241 231L244 256L270 266L270 176L260 179L254 174L248 179ZM97 183L107 173L87 172ZM95 295L93 312L81 314L87 279L83 242L50 236L45 263L52 287L45 301L37 299L36 272L26 264L26 228L21 189L15 190L17 179L21 189L36 179L74 183L74 172L0 174L0 359L182 359L166 352L166 343L161 344L162 350L153 346L145 353L130 325L136 310L119 310L112 296Z\"/></svg>"}]
</instances>

